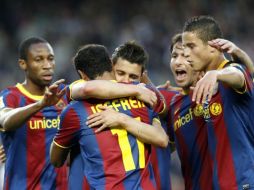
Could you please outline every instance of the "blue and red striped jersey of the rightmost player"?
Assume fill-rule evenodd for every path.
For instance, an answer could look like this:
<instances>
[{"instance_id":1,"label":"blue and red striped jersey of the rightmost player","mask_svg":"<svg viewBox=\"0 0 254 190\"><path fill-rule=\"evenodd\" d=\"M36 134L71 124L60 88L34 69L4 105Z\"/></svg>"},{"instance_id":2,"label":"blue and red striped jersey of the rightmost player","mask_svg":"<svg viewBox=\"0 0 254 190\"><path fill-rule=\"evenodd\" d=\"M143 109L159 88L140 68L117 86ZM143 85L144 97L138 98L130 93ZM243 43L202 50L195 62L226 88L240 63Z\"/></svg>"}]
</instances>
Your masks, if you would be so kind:
<instances>
[{"instance_id":1,"label":"blue and red striped jersey of the rightmost player","mask_svg":"<svg viewBox=\"0 0 254 190\"><path fill-rule=\"evenodd\" d=\"M231 66L244 74L245 89L238 92L219 82L218 92L204 108L212 156L213 187L254 189L253 82L243 66Z\"/></svg>"}]
</instances>

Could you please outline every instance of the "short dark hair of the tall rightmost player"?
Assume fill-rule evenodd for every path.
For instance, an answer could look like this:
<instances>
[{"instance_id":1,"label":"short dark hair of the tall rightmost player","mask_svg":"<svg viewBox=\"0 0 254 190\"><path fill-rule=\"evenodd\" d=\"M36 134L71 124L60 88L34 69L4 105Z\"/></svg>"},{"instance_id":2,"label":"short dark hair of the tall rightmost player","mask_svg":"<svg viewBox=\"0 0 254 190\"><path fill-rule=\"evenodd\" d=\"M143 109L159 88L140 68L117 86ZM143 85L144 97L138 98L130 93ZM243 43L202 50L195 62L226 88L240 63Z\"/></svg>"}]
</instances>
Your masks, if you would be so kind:
<instances>
[{"instance_id":1,"label":"short dark hair of the tall rightmost player","mask_svg":"<svg viewBox=\"0 0 254 190\"><path fill-rule=\"evenodd\" d=\"M195 16L187 20L183 32L194 32L204 42L222 38L222 31L217 21L207 15Z\"/></svg>"}]
</instances>

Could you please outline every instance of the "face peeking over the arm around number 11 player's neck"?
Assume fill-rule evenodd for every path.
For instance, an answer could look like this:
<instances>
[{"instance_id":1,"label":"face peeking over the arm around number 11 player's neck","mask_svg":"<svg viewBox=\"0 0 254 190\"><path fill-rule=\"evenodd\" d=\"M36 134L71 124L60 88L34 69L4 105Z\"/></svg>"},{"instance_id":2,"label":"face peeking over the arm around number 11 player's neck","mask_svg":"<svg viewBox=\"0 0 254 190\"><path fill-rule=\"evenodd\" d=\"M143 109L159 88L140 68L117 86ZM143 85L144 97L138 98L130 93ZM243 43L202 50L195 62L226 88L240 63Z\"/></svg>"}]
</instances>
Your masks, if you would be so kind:
<instances>
[{"instance_id":1,"label":"face peeking over the arm around number 11 player's neck","mask_svg":"<svg viewBox=\"0 0 254 190\"><path fill-rule=\"evenodd\" d=\"M139 82L142 75L142 66L130 63L125 59L118 58L113 66L113 71L117 82Z\"/></svg>"}]
</instances>

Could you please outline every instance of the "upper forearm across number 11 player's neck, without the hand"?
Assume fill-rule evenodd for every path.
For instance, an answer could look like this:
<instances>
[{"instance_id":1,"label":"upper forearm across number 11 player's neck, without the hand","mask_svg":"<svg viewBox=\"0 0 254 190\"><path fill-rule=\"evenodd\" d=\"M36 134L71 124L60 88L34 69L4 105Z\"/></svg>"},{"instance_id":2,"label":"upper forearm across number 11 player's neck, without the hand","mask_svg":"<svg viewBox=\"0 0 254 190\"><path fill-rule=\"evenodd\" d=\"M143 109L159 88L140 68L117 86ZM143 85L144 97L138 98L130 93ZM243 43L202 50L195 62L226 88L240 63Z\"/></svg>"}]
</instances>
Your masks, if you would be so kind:
<instances>
[{"instance_id":1,"label":"upper forearm across number 11 player's neck, without the hand","mask_svg":"<svg viewBox=\"0 0 254 190\"><path fill-rule=\"evenodd\" d=\"M139 90L136 85L120 84L106 80L94 80L81 84L73 84L71 91L73 99L114 99L139 95Z\"/></svg>"}]
</instances>

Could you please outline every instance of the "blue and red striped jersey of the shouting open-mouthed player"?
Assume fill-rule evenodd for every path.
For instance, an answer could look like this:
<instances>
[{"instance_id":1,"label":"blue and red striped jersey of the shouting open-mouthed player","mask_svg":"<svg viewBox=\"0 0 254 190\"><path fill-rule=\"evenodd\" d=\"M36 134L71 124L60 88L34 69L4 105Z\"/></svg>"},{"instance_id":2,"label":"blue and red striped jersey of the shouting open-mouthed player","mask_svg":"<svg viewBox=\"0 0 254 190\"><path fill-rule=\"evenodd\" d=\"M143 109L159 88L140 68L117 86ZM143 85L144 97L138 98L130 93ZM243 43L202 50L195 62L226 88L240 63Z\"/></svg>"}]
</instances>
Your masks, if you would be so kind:
<instances>
[{"instance_id":1,"label":"blue and red striped jersey of the shouting open-mouthed player","mask_svg":"<svg viewBox=\"0 0 254 190\"><path fill-rule=\"evenodd\" d=\"M191 93L176 94L173 97L168 123L174 131L185 189L212 190L212 159L208 151L203 109L202 105L192 102L191 97Z\"/></svg>"}]
</instances>

